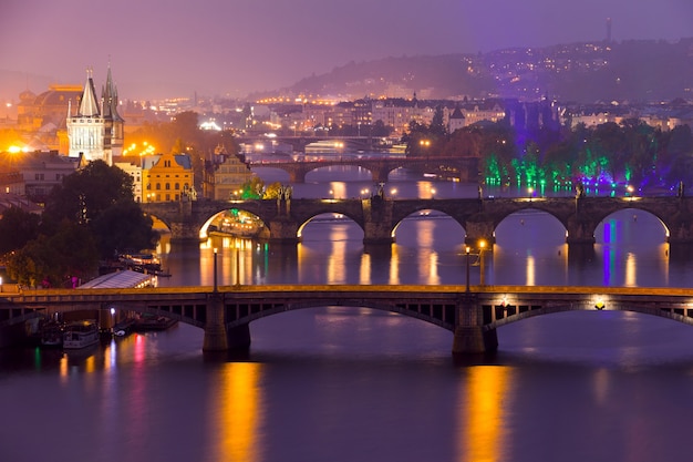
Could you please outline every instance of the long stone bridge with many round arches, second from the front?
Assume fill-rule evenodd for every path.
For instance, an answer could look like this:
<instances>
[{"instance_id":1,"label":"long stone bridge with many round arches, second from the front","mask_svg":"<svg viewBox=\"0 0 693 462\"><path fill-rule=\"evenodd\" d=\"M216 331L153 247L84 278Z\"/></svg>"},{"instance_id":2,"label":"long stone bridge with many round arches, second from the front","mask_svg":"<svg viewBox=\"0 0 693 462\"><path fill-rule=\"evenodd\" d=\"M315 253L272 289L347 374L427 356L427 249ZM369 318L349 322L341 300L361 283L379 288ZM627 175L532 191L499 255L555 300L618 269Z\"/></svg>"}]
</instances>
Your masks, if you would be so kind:
<instances>
[{"instance_id":1,"label":"long stone bridge with many round arches, second from the front","mask_svg":"<svg viewBox=\"0 0 693 462\"><path fill-rule=\"evenodd\" d=\"M495 243L495 230L509 215L527 209L546 212L566 228L566 243L593 244L599 224L623 209L652 214L662 223L671 244L693 244L693 198L659 197L516 197L394 199L375 195L360 199L193 201L142 204L146 214L164 222L172 240L200 239L211 219L230 208L256 215L270 243L298 243L301 229L322 214L339 214L363 230L364 244L391 244L397 226L421 211L451 216L465 230L465 243Z\"/></svg>"}]
</instances>

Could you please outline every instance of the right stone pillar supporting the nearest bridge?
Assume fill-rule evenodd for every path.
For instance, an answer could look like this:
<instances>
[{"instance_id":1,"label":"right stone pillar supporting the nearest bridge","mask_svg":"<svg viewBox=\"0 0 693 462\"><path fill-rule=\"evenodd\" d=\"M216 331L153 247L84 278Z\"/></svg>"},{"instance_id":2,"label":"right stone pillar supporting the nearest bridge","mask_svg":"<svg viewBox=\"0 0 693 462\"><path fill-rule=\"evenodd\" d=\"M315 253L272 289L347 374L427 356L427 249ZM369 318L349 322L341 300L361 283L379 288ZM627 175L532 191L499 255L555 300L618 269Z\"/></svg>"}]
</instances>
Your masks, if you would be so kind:
<instances>
[{"instance_id":1,"label":"right stone pillar supporting the nearest bridge","mask_svg":"<svg viewBox=\"0 0 693 462\"><path fill-rule=\"evenodd\" d=\"M469 355L498 349L496 329L485 330L482 307L476 295L466 294L457 306L453 355Z\"/></svg>"}]
</instances>

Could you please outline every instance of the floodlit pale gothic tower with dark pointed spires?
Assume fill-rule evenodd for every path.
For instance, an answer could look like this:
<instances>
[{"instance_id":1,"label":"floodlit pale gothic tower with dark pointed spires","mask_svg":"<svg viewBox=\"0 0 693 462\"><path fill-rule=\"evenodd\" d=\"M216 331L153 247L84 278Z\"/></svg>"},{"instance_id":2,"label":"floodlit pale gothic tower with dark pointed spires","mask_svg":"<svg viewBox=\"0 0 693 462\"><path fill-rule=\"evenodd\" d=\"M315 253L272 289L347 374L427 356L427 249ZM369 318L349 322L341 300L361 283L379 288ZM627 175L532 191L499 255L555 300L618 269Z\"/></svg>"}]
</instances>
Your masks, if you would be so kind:
<instances>
[{"instance_id":1,"label":"floodlit pale gothic tower with dark pointed spires","mask_svg":"<svg viewBox=\"0 0 693 462\"><path fill-rule=\"evenodd\" d=\"M113 165L113 156L122 154L124 121L117 112L117 90L111 76L111 65L101 100L96 99L93 71L86 70L86 83L77 113L72 113L71 102L66 124L70 157L83 156L87 162L102 160Z\"/></svg>"}]
</instances>

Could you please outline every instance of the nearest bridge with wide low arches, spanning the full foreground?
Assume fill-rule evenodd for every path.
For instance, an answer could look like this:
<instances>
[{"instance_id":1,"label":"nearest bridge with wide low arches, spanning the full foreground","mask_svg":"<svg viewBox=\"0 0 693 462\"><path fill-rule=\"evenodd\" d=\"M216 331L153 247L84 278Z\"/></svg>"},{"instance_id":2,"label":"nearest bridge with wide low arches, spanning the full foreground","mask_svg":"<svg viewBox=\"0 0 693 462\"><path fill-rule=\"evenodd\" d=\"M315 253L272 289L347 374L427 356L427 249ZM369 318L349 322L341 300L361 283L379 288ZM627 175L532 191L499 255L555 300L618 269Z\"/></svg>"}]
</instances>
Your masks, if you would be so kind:
<instances>
[{"instance_id":1,"label":"nearest bridge with wide low arches, spanning the full foreground","mask_svg":"<svg viewBox=\"0 0 693 462\"><path fill-rule=\"evenodd\" d=\"M364 307L453 332L454 355L498 347L496 329L572 310L624 310L693 325L693 289L537 286L224 286L30 289L0 292L0 328L54 312L111 309L176 319L204 329L204 351L247 349L250 322L311 307Z\"/></svg>"}]
</instances>

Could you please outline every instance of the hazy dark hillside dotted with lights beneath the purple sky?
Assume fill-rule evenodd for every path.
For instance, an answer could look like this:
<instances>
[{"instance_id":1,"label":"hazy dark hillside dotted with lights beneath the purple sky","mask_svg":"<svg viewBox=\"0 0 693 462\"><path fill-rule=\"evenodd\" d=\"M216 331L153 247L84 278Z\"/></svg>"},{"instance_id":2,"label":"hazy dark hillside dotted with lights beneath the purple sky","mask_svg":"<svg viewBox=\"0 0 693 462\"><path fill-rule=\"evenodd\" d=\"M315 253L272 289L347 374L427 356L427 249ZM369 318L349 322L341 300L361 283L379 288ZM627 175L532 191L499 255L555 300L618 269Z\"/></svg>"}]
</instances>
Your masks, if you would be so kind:
<instances>
[{"instance_id":1,"label":"hazy dark hillside dotted with lights beneath the purple sky","mask_svg":"<svg viewBox=\"0 0 693 462\"><path fill-rule=\"evenodd\" d=\"M693 39L572 43L485 54L350 62L306 78L296 94L362 97L528 97L561 101L693 99ZM394 92L407 94L393 94Z\"/></svg>"}]
</instances>

